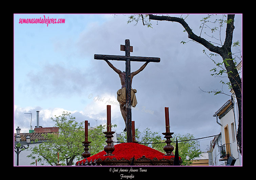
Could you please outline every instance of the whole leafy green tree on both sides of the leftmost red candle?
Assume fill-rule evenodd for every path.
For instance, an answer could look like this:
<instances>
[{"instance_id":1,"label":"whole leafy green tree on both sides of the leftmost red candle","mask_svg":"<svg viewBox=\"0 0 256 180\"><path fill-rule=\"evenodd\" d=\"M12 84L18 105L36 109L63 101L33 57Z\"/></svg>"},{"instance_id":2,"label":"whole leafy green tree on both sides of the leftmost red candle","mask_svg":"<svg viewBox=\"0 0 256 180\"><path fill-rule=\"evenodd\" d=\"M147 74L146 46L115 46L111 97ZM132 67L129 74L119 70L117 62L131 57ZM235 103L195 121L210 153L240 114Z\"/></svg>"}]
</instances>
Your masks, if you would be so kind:
<instances>
[{"instance_id":1,"label":"whole leafy green tree on both sides of the leftmost red candle","mask_svg":"<svg viewBox=\"0 0 256 180\"><path fill-rule=\"evenodd\" d=\"M59 133L47 133L45 135L47 141L31 148L31 154L27 157L37 159L38 163L46 162L53 166L57 164L59 153L61 165L71 166L75 159L81 160L81 155L84 152L82 144L84 141L84 124L83 122L76 122L76 118L67 112L51 119L56 123L55 127L59 127ZM116 125L112 125L112 127L116 127ZM103 132L105 131L106 125L88 129L88 141L91 141L88 148L91 156L104 150L106 138ZM35 140L35 142L37 141L38 139ZM35 164L35 162L31 164Z\"/></svg>"}]
</instances>

